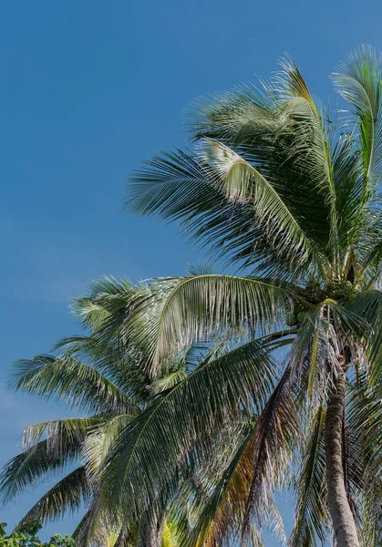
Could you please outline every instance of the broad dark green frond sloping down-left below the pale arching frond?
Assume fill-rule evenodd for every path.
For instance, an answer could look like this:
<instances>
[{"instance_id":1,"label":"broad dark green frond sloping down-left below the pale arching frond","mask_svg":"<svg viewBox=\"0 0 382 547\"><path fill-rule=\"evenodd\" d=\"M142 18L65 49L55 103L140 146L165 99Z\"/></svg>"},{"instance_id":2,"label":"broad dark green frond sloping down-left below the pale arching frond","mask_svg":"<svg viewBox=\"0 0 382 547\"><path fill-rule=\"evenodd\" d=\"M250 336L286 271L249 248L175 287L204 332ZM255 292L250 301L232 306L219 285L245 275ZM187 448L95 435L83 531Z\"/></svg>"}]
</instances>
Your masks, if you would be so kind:
<instances>
[{"instance_id":1,"label":"broad dark green frond sloping down-left below the pale arching frond","mask_svg":"<svg viewBox=\"0 0 382 547\"><path fill-rule=\"evenodd\" d=\"M212 431L235 426L244 408L261 405L272 386L273 361L256 341L201 363L190 376L163 392L113 443L100 481L108 503L136 513L192 448L202 461ZM240 419L239 419L240 423ZM158 449L160 447L160 449ZM189 461L190 463L190 461Z\"/></svg>"}]
</instances>

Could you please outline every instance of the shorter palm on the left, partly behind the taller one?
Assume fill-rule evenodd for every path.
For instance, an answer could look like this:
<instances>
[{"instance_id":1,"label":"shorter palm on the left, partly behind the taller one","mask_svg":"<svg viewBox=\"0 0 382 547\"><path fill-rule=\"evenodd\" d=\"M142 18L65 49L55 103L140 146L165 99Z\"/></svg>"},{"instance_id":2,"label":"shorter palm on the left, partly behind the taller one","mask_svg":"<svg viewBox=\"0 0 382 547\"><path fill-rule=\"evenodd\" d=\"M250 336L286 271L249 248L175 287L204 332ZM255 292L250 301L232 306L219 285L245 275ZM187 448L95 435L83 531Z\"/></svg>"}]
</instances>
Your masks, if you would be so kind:
<instances>
[{"instance_id":1,"label":"shorter palm on the left, partly behind the taller one","mask_svg":"<svg viewBox=\"0 0 382 547\"><path fill-rule=\"evenodd\" d=\"M90 413L85 418L56 419L26 428L24 451L3 470L3 499L12 500L57 471L69 468L69 473L36 502L17 528L30 520L57 520L85 505L88 511L74 533L78 546L173 547L169 511L157 503L127 525L120 511L110 515L100 503L93 480L119 431L192 366L190 352L182 353L163 366L163 374L153 382L139 360L129 355L119 330L137 290L124 280L105 278L93 283L89 293L74 304L89 335L63 339L55 356L36 356L15 364L11 387L40 397L57 397L70 408ZM78 465L73 470L74 462Z\"/></svg>"}]
</instances>

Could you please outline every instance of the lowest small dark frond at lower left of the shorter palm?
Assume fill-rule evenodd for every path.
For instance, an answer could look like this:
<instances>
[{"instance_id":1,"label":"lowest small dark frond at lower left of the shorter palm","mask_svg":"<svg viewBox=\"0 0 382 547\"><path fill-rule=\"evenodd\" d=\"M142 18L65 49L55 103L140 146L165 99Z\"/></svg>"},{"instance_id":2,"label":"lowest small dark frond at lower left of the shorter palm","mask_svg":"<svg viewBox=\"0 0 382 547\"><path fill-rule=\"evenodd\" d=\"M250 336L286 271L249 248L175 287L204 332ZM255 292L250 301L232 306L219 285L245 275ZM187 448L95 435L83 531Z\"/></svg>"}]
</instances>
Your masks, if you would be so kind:
<instances>
[{"instance_id":1,"label":"lowest small dark frond at lower left of the shorter palm","mask_svg":"<svg viewBox=\"0 0 382 547\"><path fill-rule=\"evenodd\" d=\"M83 503L88 503L90 495L85 468L79 467L48 490L26 513L17 528L31 520L41 521L43 524L55 521L67 512L80 509Z\"/></svg>"}]
</instances>

